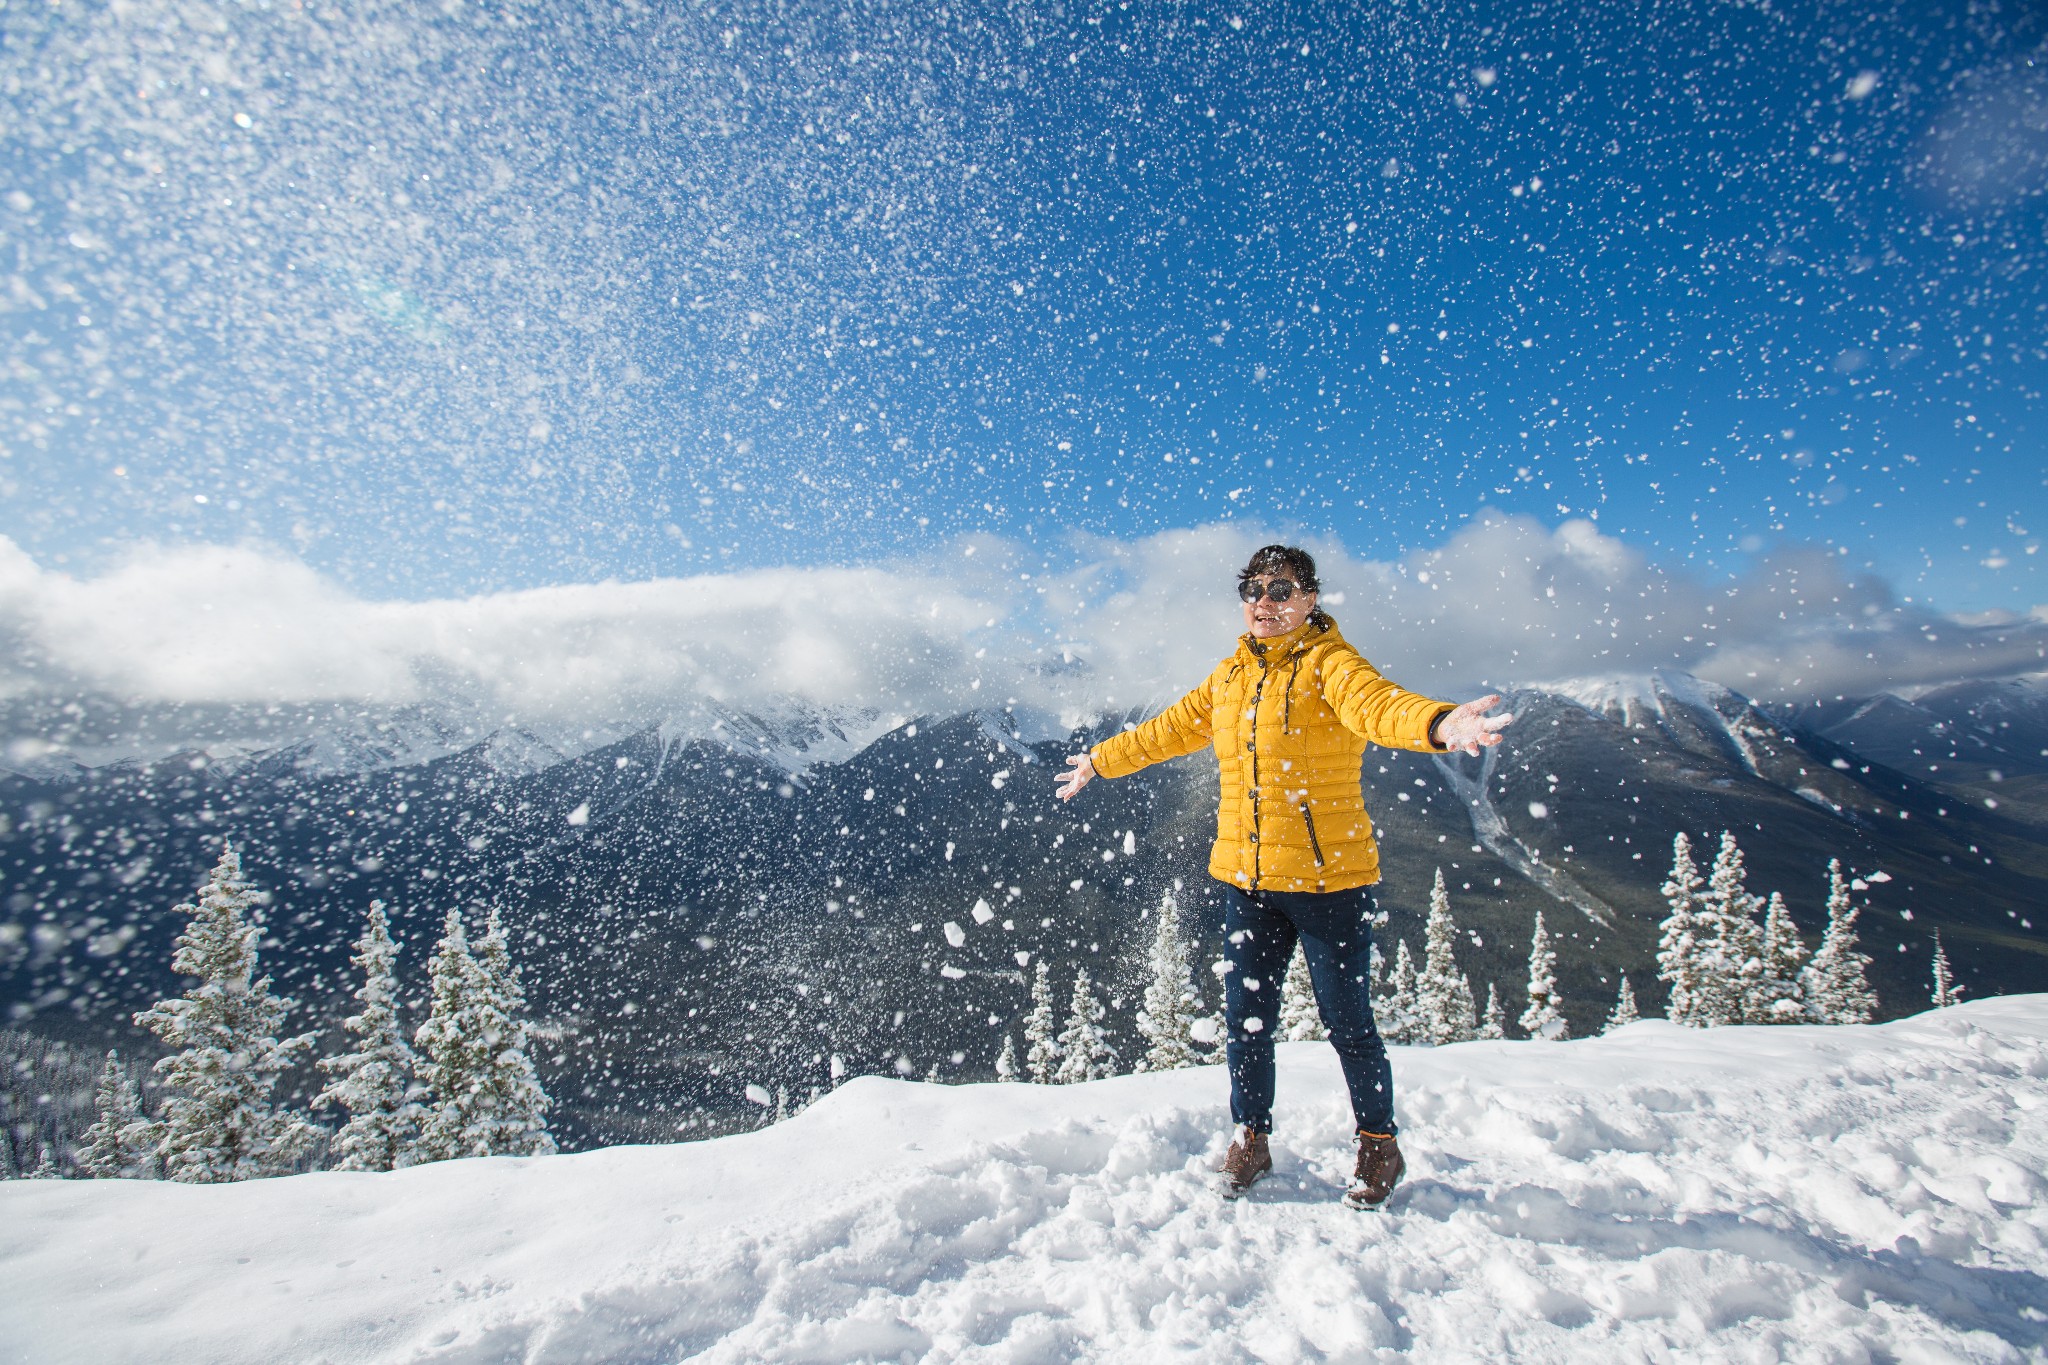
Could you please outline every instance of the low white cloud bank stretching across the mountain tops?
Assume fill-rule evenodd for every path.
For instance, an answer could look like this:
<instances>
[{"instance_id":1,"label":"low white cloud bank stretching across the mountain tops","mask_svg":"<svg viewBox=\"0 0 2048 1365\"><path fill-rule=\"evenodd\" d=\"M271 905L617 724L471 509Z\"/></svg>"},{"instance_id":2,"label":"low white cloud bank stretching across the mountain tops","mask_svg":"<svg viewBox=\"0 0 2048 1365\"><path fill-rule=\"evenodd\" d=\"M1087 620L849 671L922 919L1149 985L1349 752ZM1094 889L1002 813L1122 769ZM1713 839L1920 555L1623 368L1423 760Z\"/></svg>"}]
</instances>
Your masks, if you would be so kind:
<instances>
[{"instance_id":1,"label":"low white cloud bank stretching across the mountain tops","mask_svg":"<svg viewBox=\"0 0 2048 1365\"><path fill-rule=\"evenodd\" d=\"M0 694L434 702L567 720L715 702L1067 722L1192 686L1239 626L1241 526L1055 555L963 538L922 561L371 602L262 546L143 546L78 579L0 538ZM1794 548L1733 583L1589 522L1487 516L1399 563L1309 542L1325 608L1403 684L1686 669L1759 698L1915 692L2048 667L2048 612L1958 618Z\"/></svg>"}]
</instances>

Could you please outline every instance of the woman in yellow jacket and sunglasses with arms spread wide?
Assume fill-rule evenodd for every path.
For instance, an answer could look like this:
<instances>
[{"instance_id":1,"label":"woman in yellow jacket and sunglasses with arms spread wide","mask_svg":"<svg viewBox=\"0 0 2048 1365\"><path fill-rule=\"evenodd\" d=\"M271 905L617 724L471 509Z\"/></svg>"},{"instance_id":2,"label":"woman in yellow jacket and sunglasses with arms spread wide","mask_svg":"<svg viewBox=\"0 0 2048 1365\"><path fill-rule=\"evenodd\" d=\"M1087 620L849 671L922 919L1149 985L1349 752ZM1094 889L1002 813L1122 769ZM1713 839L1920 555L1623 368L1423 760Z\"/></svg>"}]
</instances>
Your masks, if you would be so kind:
<instances>
[{"instance_id":1,"label":"woman in yellow jacket and sunglasses with arms spread wide","mask_svg":"<svg viewBox=\"0 0 2048 1365\"><path fill-rule=\"evenodd\" d=\"M1280 982L1300 941L1317 1011L1343 1062L1358 1119L1358 1171L1346 1201L1378 1207L1401 1181L1393 1070L1372 1025L1372 884L1380 853L1360 792L1368 743L1479 753L1501 743L1511 714L1497 696L1452 706L1397 688L1317 608L1315 559L1268 544L1237 575L1245 634L1208 679L1135 731L1067 759L1071 800L1092 778L1217 751L1223 798L1208 874L1223 882L1223 1011L1229 1025L1231 1121L1225 1193L1272 1171L1274 1029Z\"/></svg>"}]
</instances>

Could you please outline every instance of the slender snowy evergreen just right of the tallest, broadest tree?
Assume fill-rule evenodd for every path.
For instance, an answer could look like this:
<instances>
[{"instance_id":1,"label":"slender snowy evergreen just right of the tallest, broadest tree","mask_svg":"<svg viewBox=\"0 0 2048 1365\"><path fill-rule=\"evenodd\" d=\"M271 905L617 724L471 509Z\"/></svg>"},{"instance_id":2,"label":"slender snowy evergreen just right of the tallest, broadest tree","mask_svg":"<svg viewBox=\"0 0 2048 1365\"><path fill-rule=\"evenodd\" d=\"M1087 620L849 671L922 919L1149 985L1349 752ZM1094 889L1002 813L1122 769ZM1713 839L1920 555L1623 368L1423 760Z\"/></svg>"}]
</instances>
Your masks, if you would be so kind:
<instances>
[{"instance_id":1,"label":"slender snowy evergreen just right of the tallest, broadest tree","mask_svg":"<svg viewBox=\"0 0 2048 1365\"><path fill-rule=\"evenodd\" d=\"M334 1081L313 1097L313 1107L334 1105L348 1113L334 1138L338 1171L395 1171L412 1162L422 1115L412 1099L416 1058L397 1021L397 945L383 900L371 900L369 927L356 939L352 962L362 970L356 988L362 1013L344 1019L342 1027L356 1036L356 1046L319 1062Z\"/></svg>"}]
</instances>

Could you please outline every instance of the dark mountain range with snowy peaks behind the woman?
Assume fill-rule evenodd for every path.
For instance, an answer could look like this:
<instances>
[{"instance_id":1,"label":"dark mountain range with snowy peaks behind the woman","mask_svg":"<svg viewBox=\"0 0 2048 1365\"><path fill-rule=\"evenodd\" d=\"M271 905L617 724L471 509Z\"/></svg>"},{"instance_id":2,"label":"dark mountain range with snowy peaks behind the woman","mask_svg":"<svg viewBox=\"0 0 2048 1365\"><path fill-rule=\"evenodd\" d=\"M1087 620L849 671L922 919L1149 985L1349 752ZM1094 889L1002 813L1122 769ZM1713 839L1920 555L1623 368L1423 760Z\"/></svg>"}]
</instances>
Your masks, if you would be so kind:
<instances>
[{"instance_id":1,"label":"dark mountain range with snowy peaks behind the woman","mask_svg":"<svg viewBox=\"0 0 2048 1365\"><path fill-rule=\"evenodd\" d=\"M1509 743L1485 757L1374 749L1364 784L1389 954L1419 954L1442 870L1460 966L1509 1017L1538 911L1575 1033L1620 972L1659 1009L1679 831L1702 860L1733 831L1751 890L1782 890L1808 939L1839 857L1886 1015L1925 1005L1937 929L1974 997L2048 988L2038 681L1765 708L1653 673L1507 706ZM127 1017L178 986L170 909L229 839L268 894L264 970L330 1050L371 898L414 1011L444 915L496 907L571 1146L723 1132L842 1074L985 1078L1036 962L1061 1001L1085 964L1128 1054L1161 898L1200 925L1210 999L1221 923L1208 755L1053 796L1065 753L1139 718L702 704L549 726L16 698L0 708L0 1003L16 1029L147 1054Z\"/></svg>"}]
</instances>

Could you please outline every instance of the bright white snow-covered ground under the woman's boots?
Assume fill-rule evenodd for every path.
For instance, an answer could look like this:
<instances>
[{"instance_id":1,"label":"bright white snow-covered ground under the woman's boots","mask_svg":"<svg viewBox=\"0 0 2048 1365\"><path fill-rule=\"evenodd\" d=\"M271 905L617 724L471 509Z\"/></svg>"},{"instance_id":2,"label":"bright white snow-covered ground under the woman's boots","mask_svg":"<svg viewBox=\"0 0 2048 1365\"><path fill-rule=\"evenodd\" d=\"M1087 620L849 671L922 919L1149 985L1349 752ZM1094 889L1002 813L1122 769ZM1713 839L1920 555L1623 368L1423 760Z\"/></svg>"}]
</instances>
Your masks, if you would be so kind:
<instances>
[{"instance_id":1,"label":"bright white snow-covered ground under the woman's boots","mask_svg":"<svg viewBox=\"0 0 2048 1365\"><path fill-rule=\"evenodd\" d=\"M1217 1068L864 1078L766 1132L229 1187L0 1187L10 1361L2038 1361L2048 997L1882 1027L1397 1050L1409 1179L1337 1203L1282 1046L1225 1203Z\"/></svg>"}]
</instances>

